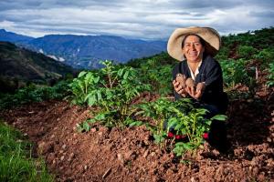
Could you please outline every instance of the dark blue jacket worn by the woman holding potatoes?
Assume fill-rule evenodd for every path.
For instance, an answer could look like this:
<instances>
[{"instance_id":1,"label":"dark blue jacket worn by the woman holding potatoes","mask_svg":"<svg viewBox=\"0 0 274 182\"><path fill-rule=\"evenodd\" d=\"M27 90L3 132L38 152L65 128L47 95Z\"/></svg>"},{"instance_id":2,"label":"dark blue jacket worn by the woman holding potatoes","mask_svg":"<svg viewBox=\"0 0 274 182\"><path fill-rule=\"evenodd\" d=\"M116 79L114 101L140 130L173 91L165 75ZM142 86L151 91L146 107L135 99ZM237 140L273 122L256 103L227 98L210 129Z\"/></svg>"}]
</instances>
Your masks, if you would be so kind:
<instances>
[{"instance_id":1,"label":"dark blue jacket worn by the woman holding potatoes","mask_svg":"<svg viewBox=\"0 0 274 182\"><path fill-rule=\"evenodd\" d=\"M178 73L184 74L186 78L191 77L186 61L177 64L173 69L173 80ZM223 90L222 69L219 63L211 56L205 56L202 65L199 67L199 74L195 78L195 84L205 82L205 91L199 102L216 106L220 113L227 111L227 94ZM174 91L175 100L181 98Z\"/></svg>"}]
</instances>

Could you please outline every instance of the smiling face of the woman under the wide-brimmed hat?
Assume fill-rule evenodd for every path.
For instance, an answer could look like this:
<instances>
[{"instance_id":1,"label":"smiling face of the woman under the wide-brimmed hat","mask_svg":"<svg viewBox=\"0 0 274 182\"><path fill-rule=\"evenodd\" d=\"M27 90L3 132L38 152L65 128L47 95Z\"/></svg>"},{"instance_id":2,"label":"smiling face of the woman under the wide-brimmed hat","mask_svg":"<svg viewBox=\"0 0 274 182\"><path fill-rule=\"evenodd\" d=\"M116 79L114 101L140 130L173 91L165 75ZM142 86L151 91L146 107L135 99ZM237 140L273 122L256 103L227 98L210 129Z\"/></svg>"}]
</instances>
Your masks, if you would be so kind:
<instances>
[{"instance_id":1,"label":"smiling face of the woman under the wide-brimmed hat","mask_svg":"<svg viewBox=\"0 0 274 182\"><path fill-rule=\"evenodd\" d=\"M196 35L188 35L184 40L183 53L187 61L199 62L203 58L205 47Z\"/></svg>"}]
</instances>

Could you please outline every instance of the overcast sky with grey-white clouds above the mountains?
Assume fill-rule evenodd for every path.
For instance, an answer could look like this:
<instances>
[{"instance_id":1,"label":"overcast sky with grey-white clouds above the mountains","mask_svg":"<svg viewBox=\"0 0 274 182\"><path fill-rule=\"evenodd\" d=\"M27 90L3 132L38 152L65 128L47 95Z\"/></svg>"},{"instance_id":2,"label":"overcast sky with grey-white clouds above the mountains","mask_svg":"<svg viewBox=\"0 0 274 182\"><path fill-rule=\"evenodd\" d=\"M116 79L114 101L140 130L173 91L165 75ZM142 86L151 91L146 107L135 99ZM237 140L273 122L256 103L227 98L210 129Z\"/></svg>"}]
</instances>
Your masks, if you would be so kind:
<instances>
[{"instance_id":1,"label":"overcast sky with grey-white clouds above the mountains","mask_svg":"<svg viewBox=\"0 0 274 182\"><path fill-rule=\"evenodd\" d=\"M273 0L0 0L0 29L34 37L166 40L176 27L211 26L227 35L273 25Z\"/></svg>"}]
</instances>

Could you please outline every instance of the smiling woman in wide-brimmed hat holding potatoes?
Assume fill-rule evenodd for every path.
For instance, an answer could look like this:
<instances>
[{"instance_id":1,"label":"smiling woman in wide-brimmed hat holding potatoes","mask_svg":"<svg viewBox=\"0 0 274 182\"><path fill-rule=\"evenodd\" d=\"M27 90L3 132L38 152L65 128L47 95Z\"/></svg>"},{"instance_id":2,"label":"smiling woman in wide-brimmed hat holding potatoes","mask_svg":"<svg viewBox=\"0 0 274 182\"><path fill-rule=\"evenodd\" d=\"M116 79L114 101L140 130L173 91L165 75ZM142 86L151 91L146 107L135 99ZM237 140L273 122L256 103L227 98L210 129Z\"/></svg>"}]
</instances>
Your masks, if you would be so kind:
<instances>
[{"instance_id":1,"label":"smiling woman in wide-brimmed hat holding potatoes","mask_svg":"<svg viewBox=\"0 0 274 182\"><path fill-rule=\"evenodd\" d=\"M180 63L173 70L175 100L185 96L192 97L198 106L209 111L206 117L225 114L227 111L227 94L223 91L221 66L216 56L221 43L220 35L209 27L177 28L170 36L167 52ZM182 85L177 76L192 78L194 84ZM199 85L199 86L198 86ZM224 139L224 123L213 122L211 136ZM218 135L215 133L223 133Z\"/></svg>"}]
</instances>

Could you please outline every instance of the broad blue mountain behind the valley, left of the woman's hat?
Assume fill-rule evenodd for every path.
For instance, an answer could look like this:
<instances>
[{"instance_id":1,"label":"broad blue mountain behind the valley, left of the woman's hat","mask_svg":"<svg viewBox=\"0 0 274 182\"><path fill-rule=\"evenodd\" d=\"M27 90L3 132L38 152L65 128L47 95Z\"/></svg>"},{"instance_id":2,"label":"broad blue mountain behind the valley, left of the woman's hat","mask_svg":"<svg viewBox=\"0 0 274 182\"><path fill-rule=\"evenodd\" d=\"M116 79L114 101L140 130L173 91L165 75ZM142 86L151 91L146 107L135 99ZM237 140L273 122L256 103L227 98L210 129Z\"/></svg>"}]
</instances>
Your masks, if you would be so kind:
<instances>
[{"instance_id":1,"label":"broad blue mountain behind the valley, left of the woman's hat","mask_svg":"<svg viewBox=\"0 0 274 182\"><path fill-rule=\"evenodd\" d=\"M3 35L0 34L0 41ZM5 40L8 39L5 37ZM98 68L100 60L125 63L134 58L153 56L166 50L164 41L126 39L111 35L46 35L15 41L24 47L43 53L78 68Z\"/></svg>"}]
</instances>

